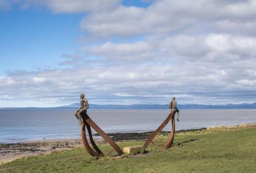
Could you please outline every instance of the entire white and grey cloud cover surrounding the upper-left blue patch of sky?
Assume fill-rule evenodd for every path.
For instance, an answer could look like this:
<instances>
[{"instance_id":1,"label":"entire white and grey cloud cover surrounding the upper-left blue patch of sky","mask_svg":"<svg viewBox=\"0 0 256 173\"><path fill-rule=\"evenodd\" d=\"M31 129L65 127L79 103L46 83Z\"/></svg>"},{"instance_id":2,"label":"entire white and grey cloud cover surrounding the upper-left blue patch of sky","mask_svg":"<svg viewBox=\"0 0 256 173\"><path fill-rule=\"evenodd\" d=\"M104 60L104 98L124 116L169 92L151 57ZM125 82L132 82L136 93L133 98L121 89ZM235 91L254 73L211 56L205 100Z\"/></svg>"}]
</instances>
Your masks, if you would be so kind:
<instances>
[{"instance_id":1,"label":"entire white and grey cloud cover surrounding the upper-left blue patch of sky","mask_svg":"<svg viewBox=\"0 0 256 173\"><path fill-rule=\"evenodd\" d=\"M99 104L164 104L173 95L183 104L256 101L255 1L89 2L44 1L54 13L88 12L80 22L86 39L77 53L63 53L60 64L69 67L0 77L2 98L72 103L84 92Z\"/></svg>"}]
</instances>

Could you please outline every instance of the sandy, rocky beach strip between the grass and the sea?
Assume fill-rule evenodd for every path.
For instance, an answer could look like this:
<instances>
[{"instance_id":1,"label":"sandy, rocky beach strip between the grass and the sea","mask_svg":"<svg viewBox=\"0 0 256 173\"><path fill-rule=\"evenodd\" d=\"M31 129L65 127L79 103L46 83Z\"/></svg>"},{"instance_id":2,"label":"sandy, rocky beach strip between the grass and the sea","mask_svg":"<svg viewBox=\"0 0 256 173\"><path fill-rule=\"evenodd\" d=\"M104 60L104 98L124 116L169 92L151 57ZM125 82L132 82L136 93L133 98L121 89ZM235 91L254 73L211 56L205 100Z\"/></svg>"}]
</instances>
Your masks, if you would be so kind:
<instances>
[{"instance_id":1,"label":"sandy, rocky beach strip between the grass and the sea","mask_svg":"<svg viewBox=\"0 0 256 173\"><path fill-rule=\"evenodd\" d=\"M239 127L244 126L256 126L256 124L242 124ZM212 128L234 128L238 126L218 126ZM191 131L201 131L209 128L201 129L187 129L176 131L176 134L187 133ZM115 141L127 141L127 140L145 140L152 131L144 133L108 133ZM161 131L161 134L168 134L168 131ZM95 136L98 136L95 134ZM97 144L106 143L103 139L96 139ZM82 147L81 139L44 139L25 141L17 144L0 144L0 164L7 163L9 161L17 160L18 158L26 156L47 155L54 151L71 150L75 147Z\"/></svg>"}]
</instances>

